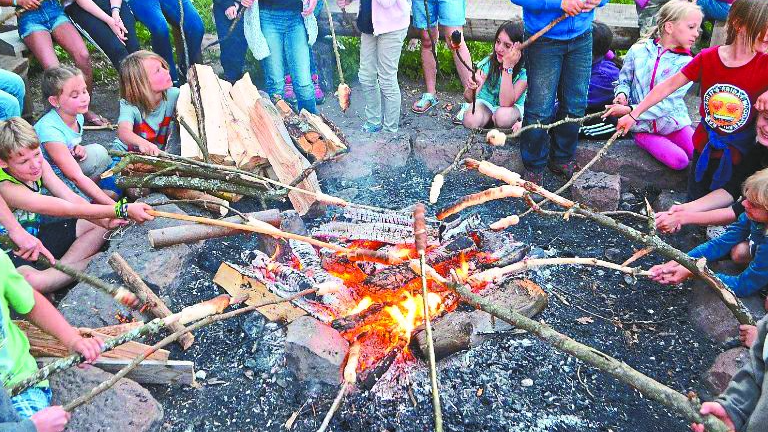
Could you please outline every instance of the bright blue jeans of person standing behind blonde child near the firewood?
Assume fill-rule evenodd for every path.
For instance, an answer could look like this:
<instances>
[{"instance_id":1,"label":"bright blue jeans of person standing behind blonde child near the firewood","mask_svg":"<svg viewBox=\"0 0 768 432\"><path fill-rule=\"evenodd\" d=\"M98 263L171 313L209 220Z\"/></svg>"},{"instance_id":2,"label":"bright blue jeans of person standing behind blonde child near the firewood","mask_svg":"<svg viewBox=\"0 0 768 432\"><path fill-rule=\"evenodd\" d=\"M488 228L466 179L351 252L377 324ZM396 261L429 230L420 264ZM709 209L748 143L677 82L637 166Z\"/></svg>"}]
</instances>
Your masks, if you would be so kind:
<instances>
[{"instance_id":1,"label":"bright blue jeans of person standing behind blonde child near the firewood","mask_svg":"<svg viewBox=\"0 0 768 432\"><path fill-rule=\"evenodd\" d=\"M130 0L131 9L136 19L147 26L152 34L152 50L159 54L170 66L171 78L179 81L176 71L176 63L173 61L173 47L168 23L179 26L181 22L181 10L178 0ZM190 0L182 0L184 7L184 36L187 39L189 61L194 63L200 55L203 43L203 20L197 13L197 9ZM166 21L167 19L167 21ZM184 62L184 55L179 54L179 63ZM186 74L188 65L180 67Z\"/></svg>"}]
</instances>

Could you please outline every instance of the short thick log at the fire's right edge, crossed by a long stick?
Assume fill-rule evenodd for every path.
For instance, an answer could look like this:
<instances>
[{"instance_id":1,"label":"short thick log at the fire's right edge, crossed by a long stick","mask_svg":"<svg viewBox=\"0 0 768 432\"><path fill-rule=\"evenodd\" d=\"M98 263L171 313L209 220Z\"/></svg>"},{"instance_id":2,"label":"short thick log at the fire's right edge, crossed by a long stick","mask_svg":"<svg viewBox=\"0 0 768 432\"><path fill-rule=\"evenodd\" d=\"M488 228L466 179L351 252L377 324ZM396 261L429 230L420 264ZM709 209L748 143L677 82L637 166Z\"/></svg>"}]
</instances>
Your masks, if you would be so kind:
<instances>
[{"instance_id":1,"label":"short thick log at the fire's right edge, crossed by a long stick","mask_svg":"<svg viewBox=\"0 0 768 432\"><path fill-rule=\"evenodd\" d=\"M480 295L494 303L503 304L528 318L532 318L547 307L547 293L527 279L512 280L500 287L489 288L481 292ZM489 314L482 311L455 311L435 320L432 323L432 335L437 359L476 346L483 340L482 334L484 332L493 330L493 325L488 325L488 322L492 322L492 320L493 318ZM499 323L503 324L501 320ZM416 352L422 358L426 358L428 348L426 331L416 332L413 335L413 341L417 348Z\"/></svg>"}]
</instances>

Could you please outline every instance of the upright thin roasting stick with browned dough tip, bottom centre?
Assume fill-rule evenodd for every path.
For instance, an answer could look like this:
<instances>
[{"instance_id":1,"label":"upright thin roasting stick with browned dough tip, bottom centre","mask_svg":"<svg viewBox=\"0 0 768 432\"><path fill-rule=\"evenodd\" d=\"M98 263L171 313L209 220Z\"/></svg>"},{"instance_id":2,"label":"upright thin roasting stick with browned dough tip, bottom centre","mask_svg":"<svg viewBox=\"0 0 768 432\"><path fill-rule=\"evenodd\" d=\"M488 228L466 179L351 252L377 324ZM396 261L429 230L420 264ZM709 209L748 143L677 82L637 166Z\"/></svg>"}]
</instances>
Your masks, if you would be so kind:
<instances>
[{"instance_id":1,"label":"upright thin roasting stick with browned dough tip, bottom centre","mask_svg":"<svg viewBox=\"0 0 768 432\"><path fill-rule=\"evenodd\" d=\"M421 275L421 300L424 305L424 325L427 330L427 346L429 351L429 381L432 384L432 409L435 413L435 432L443 431L443 412L440 408L440 391L437 388L437 368L435 367L435 345L432 339L432 323L429 319L429 290L427 290L426 250L427 225L424 219L424 204L416 204L413 209L413 235L416 252L419 253L419 274Z\"/></svg>"}]
</instances>

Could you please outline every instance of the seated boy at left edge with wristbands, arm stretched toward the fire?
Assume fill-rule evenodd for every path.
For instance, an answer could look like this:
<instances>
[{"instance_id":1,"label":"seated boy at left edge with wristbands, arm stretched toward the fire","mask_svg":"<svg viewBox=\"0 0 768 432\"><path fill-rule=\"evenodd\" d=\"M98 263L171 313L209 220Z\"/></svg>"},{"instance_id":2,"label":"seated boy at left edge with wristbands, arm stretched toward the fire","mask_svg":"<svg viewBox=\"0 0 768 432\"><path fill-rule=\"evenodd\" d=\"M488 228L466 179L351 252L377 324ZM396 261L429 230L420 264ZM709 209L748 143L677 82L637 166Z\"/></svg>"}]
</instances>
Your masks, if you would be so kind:
<instances>
[{"instance_id":1,"label":"seated boy at left edge with wristbands, arm stretched toward the fire","mask_svg":"<svg viewBox=\"0 0 768 432\"><path fill-rule=\"evenodd\" d=\"M53 196L42 194L45 187ZM34 129L20 117L0 122L0 198L14 212L19 224L40 239L54 257L77 270L84 270L104 244L104 233L126 223L152 220L147 204L90 204L69 190L43 159ZM66 219L41 225L40 214L64 218L87 218L93 222ZM117 216L117 218L116 218ZM0 234L7 229L0 227ZM36 290L47 293L72 282L54 269L36 270L29 262L13 257L19 272Z\"/></svg>"}]
</instances>

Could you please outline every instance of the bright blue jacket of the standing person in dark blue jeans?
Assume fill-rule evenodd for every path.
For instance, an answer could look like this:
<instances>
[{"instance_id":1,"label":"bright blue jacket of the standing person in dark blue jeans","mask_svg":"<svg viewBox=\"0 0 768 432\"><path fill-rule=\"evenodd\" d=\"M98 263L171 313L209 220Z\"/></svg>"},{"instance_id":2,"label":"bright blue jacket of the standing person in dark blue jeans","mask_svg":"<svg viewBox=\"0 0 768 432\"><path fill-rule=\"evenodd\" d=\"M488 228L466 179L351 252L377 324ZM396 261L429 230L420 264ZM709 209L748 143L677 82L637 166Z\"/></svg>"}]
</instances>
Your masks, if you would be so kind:
<instances>
[{"instance_id":1,"label":"bright blue jacket of the standing person in dark blue jeans","mask_svg":"<svg viewBox=\"0 0 768 432\"><path fill-rule=\"evenodd\" d=\"M523 24L525 31L533 34L543 29L557 17L563 14L560 9L561 0L511 0L512 3L522 6ZM604 6L608 0L601 0L598 7ZM568 17L544 35L544 38L569 40L581 36L592 30L592 21L595 18L595 10L588 13Z\"/></svg>"}]
</instances>

